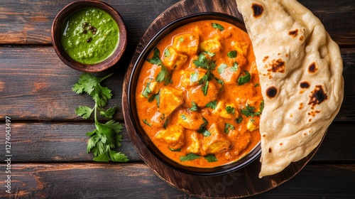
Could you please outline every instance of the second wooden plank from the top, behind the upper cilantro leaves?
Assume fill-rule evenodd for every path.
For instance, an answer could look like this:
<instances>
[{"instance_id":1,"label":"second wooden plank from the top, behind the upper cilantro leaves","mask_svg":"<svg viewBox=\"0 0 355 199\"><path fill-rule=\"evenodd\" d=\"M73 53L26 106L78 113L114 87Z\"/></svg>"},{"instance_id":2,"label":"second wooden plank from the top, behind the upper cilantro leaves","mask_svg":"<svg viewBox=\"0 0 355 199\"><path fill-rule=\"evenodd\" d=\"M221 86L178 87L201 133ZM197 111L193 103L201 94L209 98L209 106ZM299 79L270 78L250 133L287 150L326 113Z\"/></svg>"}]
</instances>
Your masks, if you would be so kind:
<instances>
[{"instance_id":1,"label":"second wooden plank from the top, behind the upper cilantro leaves","mask_svg":"<svg viewBox=\"0 0 355 199\"><path fill-rule=\"evenodd\" d=\"M124 72L133 50L130 46L117 65L95 74L104 76L114 72L114 76L102 82L114 94L109 106L122 106ZM335 121L355 121L355 48L342 48L342 56L345 99ZM0 47L0 60L0 117L80 121L82 119L75 115L75 108L85 104L93 106L89 96L72 92L72 85L82 72L62 63L51 47ZM124 119L121 108L115 119Z\"/></svg>"}]
</instances>

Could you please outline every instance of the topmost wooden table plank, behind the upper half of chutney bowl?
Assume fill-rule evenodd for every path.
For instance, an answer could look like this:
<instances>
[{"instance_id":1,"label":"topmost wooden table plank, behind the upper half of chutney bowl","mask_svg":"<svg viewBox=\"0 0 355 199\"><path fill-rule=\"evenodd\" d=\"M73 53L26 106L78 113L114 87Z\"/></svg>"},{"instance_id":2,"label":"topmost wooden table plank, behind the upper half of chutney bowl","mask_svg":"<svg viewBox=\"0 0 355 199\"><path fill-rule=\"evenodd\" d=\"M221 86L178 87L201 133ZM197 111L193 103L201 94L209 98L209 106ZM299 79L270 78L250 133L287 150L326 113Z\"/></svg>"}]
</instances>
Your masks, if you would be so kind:
<instances>
[{"instance_id":1,"label":"topmost wooden table plank, behind the upper half of chutney bowl","mask_svg":"<svg viewBox=\"0 0 355 199\"><path fill-rule=\"evenodd\" d=\"M70 2L70 0L46 1L43 4L40 0L1 1L0 44L50 44L50 28L55 15ZM155 17L178 0L104 0L104 2L119 11L126 23L129 44L136 44ZM300 0L300 3L320 18L339 45L355 45L355 21L351 20L355 18L355 6L352 0L324 0L322 3Z\"/></svg>"}]
</instances>

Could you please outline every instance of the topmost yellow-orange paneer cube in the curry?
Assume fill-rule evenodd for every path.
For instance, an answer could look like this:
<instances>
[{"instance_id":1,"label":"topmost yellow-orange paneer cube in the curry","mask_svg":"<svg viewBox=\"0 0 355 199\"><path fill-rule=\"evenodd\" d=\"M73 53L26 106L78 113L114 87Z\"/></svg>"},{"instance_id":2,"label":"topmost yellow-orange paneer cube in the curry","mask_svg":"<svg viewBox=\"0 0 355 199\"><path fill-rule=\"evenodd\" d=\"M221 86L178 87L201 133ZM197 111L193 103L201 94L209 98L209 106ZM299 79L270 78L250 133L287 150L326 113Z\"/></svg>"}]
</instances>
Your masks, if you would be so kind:
<instances>
[{"instance_id":1,"label":"topmost yellow-orange paneer cube in the curry","mask_svg":"<svg viewBox=\"0 0 355 199\"><path fill-rule=\"evenodd\" d=\"M180 53L196 55L199 43L200 38L197 33L186 33L174 37L173 48L178 50Z\"/></svg>"}]
</instances>

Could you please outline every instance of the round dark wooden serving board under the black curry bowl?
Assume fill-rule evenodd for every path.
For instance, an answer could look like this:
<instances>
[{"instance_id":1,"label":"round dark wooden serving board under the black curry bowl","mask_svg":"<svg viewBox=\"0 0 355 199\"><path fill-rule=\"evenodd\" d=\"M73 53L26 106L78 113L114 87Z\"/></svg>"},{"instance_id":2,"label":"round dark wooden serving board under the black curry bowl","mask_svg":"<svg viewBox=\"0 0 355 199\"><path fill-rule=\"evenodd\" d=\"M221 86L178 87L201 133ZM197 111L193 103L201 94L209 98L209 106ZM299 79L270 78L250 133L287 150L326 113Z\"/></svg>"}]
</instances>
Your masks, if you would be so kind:
<instances>
[{"instance_id":1,"label":"round dark wooden serving board under the black curry bowl","mask_svg":"<svg viewBox=\"0 0 355 199\"><path fill-rule=\"evenodd\" d=\"M261 169L260 158L249 165L231 173L226 173L220 176L195 176L182 171L178 171L155 157L151 151L138 136L133 128L132 120L129 117L128 105L128 86L129 78L133 70L133 65L136 63L138 56L146 47L151 38L155 36L164 26L171 21L182 16L190 14L198 14L201 12L219 12L236 16L243 21L241 14L236 8L236 1L233 0L183 0L171 6L169 9L160 14L155 21L148 27L141 41L138 43L136 51L133 55L129 68L126 71L124 78L124 87L122 95L122 106L124 111L124 119L126 129L129 131L129 137L138 154L143 158L143 161L159 176L163 181L173 185L173 187L182 190L190 195L195 195L202 198L243 198L258 193L263 193L266 190L275 188L276 186L288 181L295 176L306 164L317 149L303 158L300 161L291 163L282 172L273 176L258 178L258 173Z\"/></svg>"}]
</instances>

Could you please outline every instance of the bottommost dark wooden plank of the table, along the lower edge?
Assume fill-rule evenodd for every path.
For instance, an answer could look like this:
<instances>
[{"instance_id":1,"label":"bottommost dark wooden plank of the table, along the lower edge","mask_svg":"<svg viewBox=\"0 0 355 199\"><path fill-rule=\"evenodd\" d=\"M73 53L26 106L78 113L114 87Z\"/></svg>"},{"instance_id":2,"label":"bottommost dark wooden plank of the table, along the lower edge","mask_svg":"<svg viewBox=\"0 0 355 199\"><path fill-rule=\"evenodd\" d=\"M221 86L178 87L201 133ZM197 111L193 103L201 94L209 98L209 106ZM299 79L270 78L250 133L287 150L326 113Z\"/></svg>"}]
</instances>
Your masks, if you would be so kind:
<instances>
[{"instance_id":1,"label":"bottommost dark wooden plank of the table, along the lower edge","mask_svg":"<svg viewBox=\"0 0 355 199\"><path fill-rule=\"evenodd\" d=\"M5 171L6 164L0 164ZM239 178L239 176L234 176ZM233 179L204 188L212 197L241 188ZM354 198L354 164L307 165L294 178L251 198ZM184 181L184 179L181 179ZM4 188L5 180L0 181ZM4 189L3 189L4 190ZM143 163L12 163L11 198L195 198L155 176Z\"/></svg>"}]
</instances>

